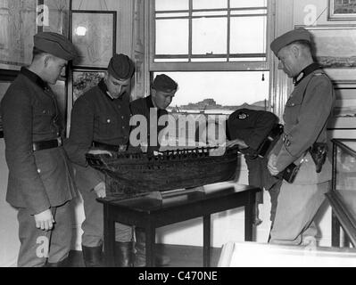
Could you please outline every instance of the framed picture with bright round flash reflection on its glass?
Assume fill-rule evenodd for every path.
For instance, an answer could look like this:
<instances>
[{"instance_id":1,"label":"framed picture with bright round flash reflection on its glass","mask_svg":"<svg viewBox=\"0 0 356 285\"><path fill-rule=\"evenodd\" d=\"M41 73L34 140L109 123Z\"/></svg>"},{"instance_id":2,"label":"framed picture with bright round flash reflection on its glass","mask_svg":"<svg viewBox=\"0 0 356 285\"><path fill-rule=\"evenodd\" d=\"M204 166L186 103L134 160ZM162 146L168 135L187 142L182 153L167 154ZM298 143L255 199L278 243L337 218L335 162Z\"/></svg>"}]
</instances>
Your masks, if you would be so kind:
<instances>
[{"instance_id":1,"label":"framed picture with bright round flash reflection on its glass","mask_svg":"<svg viewBox=\"0 0 356 285\"><path fill-rule=\"evenodd\" d=\"M70 40L79 51L73 69L106 69L116 52L116 11L73 10Z\"/></svg>"}]
</instances>

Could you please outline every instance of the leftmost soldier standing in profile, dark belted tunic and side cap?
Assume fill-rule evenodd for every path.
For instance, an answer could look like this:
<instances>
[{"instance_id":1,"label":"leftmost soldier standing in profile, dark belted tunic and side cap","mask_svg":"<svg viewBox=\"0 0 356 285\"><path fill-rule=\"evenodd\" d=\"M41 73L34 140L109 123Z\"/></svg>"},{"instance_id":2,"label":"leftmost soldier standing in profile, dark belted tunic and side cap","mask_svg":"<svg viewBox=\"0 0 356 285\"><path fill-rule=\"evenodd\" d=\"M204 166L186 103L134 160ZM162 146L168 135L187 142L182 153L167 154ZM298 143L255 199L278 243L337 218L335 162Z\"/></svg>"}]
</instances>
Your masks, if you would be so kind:
<instances>
[{"instance_id":1,"label":"leftmost soldier standing in profile, dark belted tunic and side cap","mask_svg":"<svg viewBox=\"0 0 356 285\"><path fill-rule=\"evenodd\" d=\"M60 111L48 84L55 84L77 53L56 33L38 33L34 44L31 65L21 69L1 102L9 167L6 200L19 210L18 265L64 266L75 188L62 148Z\"/></svg>"}]
</instances>

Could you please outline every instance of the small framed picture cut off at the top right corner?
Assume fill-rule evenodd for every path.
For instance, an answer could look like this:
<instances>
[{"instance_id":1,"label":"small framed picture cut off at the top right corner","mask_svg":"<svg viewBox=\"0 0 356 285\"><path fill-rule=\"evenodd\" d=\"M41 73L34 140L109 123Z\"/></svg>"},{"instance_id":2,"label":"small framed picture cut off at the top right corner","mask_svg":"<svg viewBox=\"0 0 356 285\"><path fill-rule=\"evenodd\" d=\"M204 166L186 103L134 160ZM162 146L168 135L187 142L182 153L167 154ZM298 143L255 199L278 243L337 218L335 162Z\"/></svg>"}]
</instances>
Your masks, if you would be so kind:
<instances>
[{"instance_id":1,"label":"small framed picture cut off at the top right corner","mask_svg":"<svg viewBox=\"0 0 356 285\"><path fill-rule=\"evenodd\" d=\"M350 0L328 0L327 20L356 20L356 3Z\"/></svg>"}]
</instances>

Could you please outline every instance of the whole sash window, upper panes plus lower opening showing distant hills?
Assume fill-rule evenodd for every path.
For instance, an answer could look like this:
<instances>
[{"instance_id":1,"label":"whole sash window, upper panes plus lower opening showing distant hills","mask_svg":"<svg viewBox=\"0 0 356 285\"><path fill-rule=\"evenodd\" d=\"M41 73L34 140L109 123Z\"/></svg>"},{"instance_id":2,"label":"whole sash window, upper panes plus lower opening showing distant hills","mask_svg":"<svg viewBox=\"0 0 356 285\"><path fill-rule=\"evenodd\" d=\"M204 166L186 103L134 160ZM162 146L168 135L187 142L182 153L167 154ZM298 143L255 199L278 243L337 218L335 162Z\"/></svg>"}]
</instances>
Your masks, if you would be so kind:
<instances>
[{"instance_id":1,"label":"whole sash window, upper panes plus lower opening showing distant hills","mask_svg":"<svg viewBox=\"0 0 356 285\"><path fill-rule=\"evenodd\" d=\"M179 89L170 110L269 110L272 0L152 0L150 71Z\"/></svg>"}]
</instances>

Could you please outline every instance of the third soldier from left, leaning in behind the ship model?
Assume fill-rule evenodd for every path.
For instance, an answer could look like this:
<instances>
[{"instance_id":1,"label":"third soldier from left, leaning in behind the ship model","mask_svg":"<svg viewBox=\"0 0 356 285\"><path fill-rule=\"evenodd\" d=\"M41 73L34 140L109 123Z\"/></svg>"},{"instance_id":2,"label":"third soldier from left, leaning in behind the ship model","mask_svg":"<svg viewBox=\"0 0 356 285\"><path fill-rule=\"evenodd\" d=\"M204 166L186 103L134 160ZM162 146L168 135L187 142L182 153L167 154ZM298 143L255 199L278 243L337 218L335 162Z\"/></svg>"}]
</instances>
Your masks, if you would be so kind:
<instances>
[{"instance_id":1,"label":"third soldier from left, leaning in behind the ship model","mask_svg":"<svg viewBox=\"0 0 356 285\"><path fill-rule=\"evenodd\" d=\"M144 144L147 149L144 151L153 152L160 150L160 142L158 134L167 126L160 126L159 120L162 116L168 115L166 110L170 106L170 102L178 89L178 84L172 78L165 74L158 75L153 80L151 95L145 98L140 98L131 102L131 114L141 115L147 123L147 137L139 138L139 141ZM133 126L134 128L135 126ZM154 134L151 134L153 130ZM131 137L131 141L133 138ZM141 229L136 229L136 258L135 267L145 266L145 232ZM169 256L155 254L156 265L168 265L170 263Z\"/></svg>"}]
</instances>

